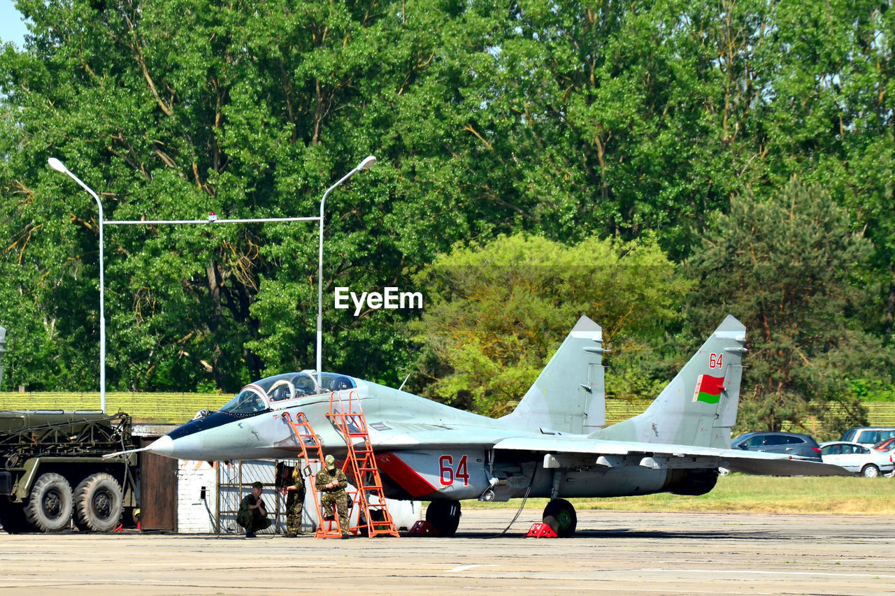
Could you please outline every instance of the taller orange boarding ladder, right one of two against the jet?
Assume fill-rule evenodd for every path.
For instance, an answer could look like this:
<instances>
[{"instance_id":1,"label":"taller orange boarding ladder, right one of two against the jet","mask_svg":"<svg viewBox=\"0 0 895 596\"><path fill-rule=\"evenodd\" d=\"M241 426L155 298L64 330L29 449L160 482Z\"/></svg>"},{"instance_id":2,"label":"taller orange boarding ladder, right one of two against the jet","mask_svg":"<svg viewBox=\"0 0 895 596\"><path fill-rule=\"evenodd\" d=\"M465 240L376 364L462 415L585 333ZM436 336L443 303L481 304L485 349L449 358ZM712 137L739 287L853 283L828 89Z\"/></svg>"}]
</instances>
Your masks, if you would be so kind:
<instances>
[{"instance_id":1,"label":"taller orange boarding ladder, right one of two against the jet","mask_svg":"<svg viewBox=\"0 0 895 596\"><path fill-rule=\"evenodd\" d=\"M345 458L343 471L347 471L350 467L357 486L354 492L354 507L360 504L361 511L357 516L357 525L352 526L351 530L361 533L365 531L370 538L381 534L398 536L395 522L388 513L379 466L376 464L376 456L373 455L367 421L363 416L361 399L357 391L349 391L347 400L342 399L339 391L329 394L327 417L345 437L348 456ZM371 497L375 498L375 503L370 502Z\"/></svg>"}]
</instances>

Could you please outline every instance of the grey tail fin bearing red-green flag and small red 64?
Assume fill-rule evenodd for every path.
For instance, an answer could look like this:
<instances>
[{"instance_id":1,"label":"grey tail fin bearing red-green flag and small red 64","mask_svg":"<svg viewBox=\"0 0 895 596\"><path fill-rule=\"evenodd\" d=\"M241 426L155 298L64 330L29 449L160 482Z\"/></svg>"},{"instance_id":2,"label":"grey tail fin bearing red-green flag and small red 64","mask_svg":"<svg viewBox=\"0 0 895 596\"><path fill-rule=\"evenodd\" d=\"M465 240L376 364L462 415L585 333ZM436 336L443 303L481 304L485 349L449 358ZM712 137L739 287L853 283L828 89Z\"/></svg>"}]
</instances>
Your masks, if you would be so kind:
<instances>
[{"instance_id":1,"label":"grey tail fin bearing red-green flag and small red 64","mask_svg":"<svg viewBox=\"0 0 895 596\"><path fill-rule=\"evenodd\" d=\"M646 412L597 430L591 437L730 447L745 344L746 327L728 315Z\"/></svg>"}]
</instances>

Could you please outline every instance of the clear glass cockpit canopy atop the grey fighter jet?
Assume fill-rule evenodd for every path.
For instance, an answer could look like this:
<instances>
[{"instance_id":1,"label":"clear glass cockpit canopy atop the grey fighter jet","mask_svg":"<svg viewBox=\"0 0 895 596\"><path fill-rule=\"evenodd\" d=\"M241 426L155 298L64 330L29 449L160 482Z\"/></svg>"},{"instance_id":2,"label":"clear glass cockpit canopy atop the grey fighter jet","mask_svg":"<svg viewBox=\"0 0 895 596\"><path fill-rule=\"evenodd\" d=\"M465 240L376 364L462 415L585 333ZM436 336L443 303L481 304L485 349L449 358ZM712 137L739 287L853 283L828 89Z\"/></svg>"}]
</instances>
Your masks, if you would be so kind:
<instances>
[{"instance_id":1,"label":"clear glass cockpit canopy atop the grey fighter jet","mask_svg":"<svg viewBox=\"0 0 895 596\"><path fill-rule=\"evenodd\" d=\"M291 399L318 396L354 387L357 386L353 379L333 372L320 374L313 371L286 372L246 385L220 411L242 415L259 413L283 407L284 402Z\"/></svg>"}]
</instances>

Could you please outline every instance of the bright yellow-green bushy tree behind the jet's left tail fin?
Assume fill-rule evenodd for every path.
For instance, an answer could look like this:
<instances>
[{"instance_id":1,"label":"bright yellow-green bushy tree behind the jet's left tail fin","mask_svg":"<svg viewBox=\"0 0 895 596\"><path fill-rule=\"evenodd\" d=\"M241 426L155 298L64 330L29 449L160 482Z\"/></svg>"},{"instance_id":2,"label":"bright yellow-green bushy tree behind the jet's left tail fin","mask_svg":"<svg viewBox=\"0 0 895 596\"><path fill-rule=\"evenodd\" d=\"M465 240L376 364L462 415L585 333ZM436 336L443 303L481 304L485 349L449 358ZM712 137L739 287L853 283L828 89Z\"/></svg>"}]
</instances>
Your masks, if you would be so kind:
<instances>
[{"instance_id":1,"label":"bright yellow-green bushy tree behind the jet's left tail fin","mask_svg":"<svg viewBox=\"0 0 895 596\"><path fill-rule=\"evenodd\" d=\"M654 238L458 245L418 277L430 303L411 323L423 346L414 382L441 401L507 413L581 315L601 323L607 344L624 338L635 350L660 336L687 288L673 272Z\"/></svg>"}]
</instances>

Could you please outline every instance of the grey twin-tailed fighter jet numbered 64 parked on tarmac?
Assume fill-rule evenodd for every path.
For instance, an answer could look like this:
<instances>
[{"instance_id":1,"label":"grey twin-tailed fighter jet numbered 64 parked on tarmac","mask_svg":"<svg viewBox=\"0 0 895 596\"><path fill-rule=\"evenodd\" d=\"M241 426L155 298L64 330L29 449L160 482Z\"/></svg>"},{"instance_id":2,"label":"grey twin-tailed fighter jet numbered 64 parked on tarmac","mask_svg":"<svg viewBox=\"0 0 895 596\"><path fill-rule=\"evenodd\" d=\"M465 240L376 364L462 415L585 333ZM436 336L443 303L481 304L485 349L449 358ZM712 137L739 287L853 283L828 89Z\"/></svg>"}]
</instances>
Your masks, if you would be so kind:
<instances>
[{"instance_id":1,"label":"grey twin-tailed fighter jet numbered 64 parked on tarmac","mask_svg":"<svg viewBox=\"0 0 895 596\"><path fill-rule=\"evenodd\" d=\"M362 406L385 496L430 501L426 519L442 536L456 532L464 499L550 498L543 520L563 537L576 526L567 498L702 495L714 488L719 467L848 475L835 465L730 448L745 343L746 328L728 316L644 413L610 426L602 329L582 317L503 418L303 370L251 383L219 411L197 415L144 448L190 460L294 458L302 446L286 419L304 413L324 451L344 457L345 437L327 413L332 399L350 395Z\"/></svg>"}]
</instances>

